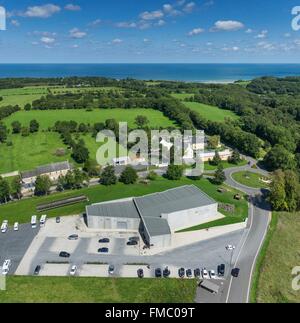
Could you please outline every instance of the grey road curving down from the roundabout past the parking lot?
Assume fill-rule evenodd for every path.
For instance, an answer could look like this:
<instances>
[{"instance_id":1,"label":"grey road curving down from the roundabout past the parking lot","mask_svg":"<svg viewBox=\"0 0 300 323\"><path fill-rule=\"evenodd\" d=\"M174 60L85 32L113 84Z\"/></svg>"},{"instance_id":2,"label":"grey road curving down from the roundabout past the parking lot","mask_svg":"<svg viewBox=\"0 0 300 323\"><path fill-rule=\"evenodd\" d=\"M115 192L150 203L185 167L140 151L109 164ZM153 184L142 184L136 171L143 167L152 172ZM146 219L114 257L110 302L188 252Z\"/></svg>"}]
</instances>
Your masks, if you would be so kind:
<instances>
[{"instance_id":1,"label":"grey road curving down from the roundabout past the parking lot","mask_svg":"<svg viewBox=\"0 0 300 323\"><path fill-rule=\"evenodd\" d=\"M221 299L224 303L249 302L253 271L271 219L270 207L263 198L264 192L239 184L232 178L233 173L240 171L268 174L261 169L252 169L249 165L225 170L226 184L248 194L250 196L250 207L241 248L234 255L232 264L232 268L240 269L240 275L238 278L229 276L226 280Z\"/></svg>"}]
</instances>

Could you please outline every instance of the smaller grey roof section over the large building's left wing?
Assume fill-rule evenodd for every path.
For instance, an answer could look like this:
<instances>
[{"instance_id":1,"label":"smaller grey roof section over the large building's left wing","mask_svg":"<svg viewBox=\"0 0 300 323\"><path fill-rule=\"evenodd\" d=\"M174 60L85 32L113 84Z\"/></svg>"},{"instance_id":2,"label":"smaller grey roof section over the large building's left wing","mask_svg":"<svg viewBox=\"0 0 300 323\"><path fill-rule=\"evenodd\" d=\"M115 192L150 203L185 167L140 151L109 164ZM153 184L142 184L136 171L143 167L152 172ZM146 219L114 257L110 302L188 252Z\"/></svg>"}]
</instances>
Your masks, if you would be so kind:
<instances>
[{"instance_id":1,"label":"smaller grey roof section over the large building's left wing","mask_svg":"<svg viewBox=\"0 0 300 323\"><path fill-rule=\"evenodd\" d=\"M92 204L87 206L86 211L89 216L103 216L108 218L140 218L132 200Z\"/></svg>"}]
</instances>

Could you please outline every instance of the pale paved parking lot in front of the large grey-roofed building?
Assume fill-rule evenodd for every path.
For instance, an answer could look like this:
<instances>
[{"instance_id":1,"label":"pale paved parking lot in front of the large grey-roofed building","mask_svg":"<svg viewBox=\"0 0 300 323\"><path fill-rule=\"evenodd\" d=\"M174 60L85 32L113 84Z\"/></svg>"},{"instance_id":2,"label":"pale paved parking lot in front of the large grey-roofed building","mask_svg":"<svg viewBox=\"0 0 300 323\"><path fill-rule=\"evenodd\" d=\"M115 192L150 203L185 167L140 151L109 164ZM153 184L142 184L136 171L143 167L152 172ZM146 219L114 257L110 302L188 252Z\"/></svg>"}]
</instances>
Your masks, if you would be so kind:
<instances>
[{"instance_id":1,"label":"pale paved parking lot in front of the large grey-roofed building","mask_svg":"<svg viewBox=\"0 0 300 323\"><path fill-rule=\"evenodd\" d=\"M71 234L78 234L76 241L68 240ZM178 277L178 269L206 268L217 271L221 263L229 268L231 252L225 249L228 244L237 246L243 231L235 231L210 240L199 241L155 255L144 255L142 243L137 246L127 246L132 233L87 232L82 230L78 219L62 218L60 224L55 220L47 221L38 236L28 248L16 274L32 275L37 265L41 265L40 275L69 275L72 265L78 267L77 275L108 277L108 266L115 266L116 277L137 277L137 270L144 269L144 276L154 277L155 268L164 269L168 266L171 277ZM109 238L108 244L99 243L99 239ZM100 247L107 247L108 253L98 253ZM59 253L66 251L70 258L61 258Z\"/></svg>"}]
</instances>

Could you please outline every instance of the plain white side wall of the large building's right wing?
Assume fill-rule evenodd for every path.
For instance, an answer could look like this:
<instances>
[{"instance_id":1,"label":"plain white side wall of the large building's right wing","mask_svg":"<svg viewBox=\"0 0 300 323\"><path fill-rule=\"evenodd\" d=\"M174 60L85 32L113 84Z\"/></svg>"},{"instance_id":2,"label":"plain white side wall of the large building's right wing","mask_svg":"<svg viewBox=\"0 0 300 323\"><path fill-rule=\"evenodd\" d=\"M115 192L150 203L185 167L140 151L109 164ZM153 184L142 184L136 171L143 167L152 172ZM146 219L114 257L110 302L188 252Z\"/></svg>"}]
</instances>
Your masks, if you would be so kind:
<instances>
[{"instance_id":1,"label":"plain white side wall of the large building's right wing","mask_svg":"<svg viewBox=\"0 0 300 323\"><path fill-rule=\"evenodd\" d=\"M168 220L172 232L189 228L199 223L209 222L218 213L218 203L202 206L199 208L183 210L170 214L163 214Z\"/></svg>"}]
</instances>

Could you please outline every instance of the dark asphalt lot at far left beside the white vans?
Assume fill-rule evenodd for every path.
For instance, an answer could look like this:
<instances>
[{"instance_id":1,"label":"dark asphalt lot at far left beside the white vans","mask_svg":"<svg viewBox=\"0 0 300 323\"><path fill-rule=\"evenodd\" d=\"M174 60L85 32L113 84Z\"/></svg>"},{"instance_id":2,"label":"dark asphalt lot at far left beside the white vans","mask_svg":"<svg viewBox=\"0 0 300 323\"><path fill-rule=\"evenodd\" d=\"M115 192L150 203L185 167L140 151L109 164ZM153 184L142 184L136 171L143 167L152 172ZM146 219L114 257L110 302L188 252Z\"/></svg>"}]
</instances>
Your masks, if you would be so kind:
<instances>
[{"instance_id":1,"label":"dark asphalt lot at far left beside the white vans","mask_svg":"<svg viewBox=\"0 0 300 323\"><path fill-rule=\"evenodd\" d=\"M38 234L39 229L32 229L30 224L19 226L19 231L9 228L6 233L0 233L0 266L4 260L12 262L9 273L15 273L30 244Z\"/></svg>"}]
</instances>

